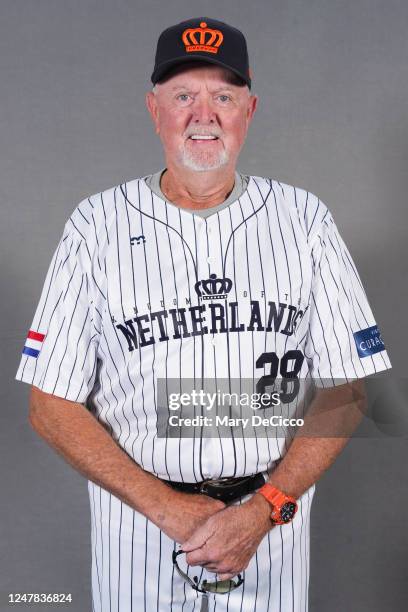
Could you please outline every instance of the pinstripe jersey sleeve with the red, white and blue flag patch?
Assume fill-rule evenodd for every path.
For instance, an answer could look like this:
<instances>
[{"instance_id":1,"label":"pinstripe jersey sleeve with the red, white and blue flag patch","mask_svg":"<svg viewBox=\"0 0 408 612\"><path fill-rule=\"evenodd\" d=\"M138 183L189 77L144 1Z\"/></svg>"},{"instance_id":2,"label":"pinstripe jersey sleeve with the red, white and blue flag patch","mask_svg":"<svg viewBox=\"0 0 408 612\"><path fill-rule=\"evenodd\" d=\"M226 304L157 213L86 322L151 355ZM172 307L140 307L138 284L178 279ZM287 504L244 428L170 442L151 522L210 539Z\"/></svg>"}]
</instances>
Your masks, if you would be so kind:
<instances>
[{"instance_id":1,"label":"pinstripe jersey sleeve with the red, white and blue flag patch","mask_svg":"<svg viewBox=\"0 0 408 612\"><path fill-rule=\"evenodd\" d=\"M93 297L88 246L68 220L46 274L16 380L71 401L86 401L95 381L100 336Z\"/></svg>"}]
</instances>

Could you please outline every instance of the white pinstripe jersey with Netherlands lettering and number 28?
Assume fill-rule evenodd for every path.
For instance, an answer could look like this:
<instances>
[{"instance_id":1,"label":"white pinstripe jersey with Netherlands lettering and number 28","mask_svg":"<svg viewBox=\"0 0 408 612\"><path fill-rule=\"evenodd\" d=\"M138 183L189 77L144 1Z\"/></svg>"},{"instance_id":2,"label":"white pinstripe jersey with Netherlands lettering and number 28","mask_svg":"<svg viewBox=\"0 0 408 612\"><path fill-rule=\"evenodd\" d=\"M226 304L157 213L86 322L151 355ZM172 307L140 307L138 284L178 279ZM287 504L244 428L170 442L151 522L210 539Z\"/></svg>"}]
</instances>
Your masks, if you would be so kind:
<instances>
[{"instance_id":1,"label":"white pinstripe jersey with Netherlands lettering and number 28","mask_svg":"<svg viewBox=\"0 0 408 612\"><path fill-rule=\"evenodd\" d=\"M16 379L86 404L145 470L200 481L268 469L269 438L157 436L158 378L354 379L391 367L332 215L251 176L207 218L144 179L85 198L52 258ZM267 357L265 357L265 355Z\"/></svg>"}]
</instances>

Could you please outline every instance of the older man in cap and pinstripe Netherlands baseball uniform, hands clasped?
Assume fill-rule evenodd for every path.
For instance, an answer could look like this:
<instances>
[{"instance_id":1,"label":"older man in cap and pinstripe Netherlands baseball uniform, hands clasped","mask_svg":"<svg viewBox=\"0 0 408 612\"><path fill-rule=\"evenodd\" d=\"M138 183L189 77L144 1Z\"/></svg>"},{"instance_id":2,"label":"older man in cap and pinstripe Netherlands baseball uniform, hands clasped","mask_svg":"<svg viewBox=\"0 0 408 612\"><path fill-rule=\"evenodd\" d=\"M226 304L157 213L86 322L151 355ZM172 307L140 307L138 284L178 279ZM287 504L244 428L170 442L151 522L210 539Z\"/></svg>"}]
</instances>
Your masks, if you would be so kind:
<instances>
[{"instance_id":1,"label":"older man in cap and pinstripe Netherlands baseball uniform, hands clasped","mask_svg":"<svg viewBox=\"0 0 408 612\"><path fill-rule=\"evenodd\" d=\"M258 103L242 33L168 28L152 82L165 168L76 207L16 378L33 427L88 479L93 610L304 611L315 482L389 358L326 206L236 169ZM258 400L282 382L262 427L220 396L170 417L169 389L248 380ZM325 436L276 426L310 415Z\"/></svg>"}]
</instances>

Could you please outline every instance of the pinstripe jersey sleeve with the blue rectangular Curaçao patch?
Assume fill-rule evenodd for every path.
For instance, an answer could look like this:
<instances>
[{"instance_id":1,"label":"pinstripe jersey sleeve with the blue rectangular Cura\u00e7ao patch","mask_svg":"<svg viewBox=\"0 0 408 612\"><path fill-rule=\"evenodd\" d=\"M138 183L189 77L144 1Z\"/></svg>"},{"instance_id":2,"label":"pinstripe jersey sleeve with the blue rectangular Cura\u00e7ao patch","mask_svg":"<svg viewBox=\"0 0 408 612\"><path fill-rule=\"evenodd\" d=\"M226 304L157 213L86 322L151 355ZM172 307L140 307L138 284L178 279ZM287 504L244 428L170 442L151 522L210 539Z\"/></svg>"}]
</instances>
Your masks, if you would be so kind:
<instances>
[{"instance_id":1,"label":"pinstripe jersey sleeve with the blue rectangular Cura\u00e7ao patch","mask_svg":"<svg viewBox=\"0 0 408 612\"><path fill-rule=\"evenodd\" d=\"M391 368L360 276L328 210L311 256L305 357L315 384L342 384Z\"/></svg>"}]
</instances>

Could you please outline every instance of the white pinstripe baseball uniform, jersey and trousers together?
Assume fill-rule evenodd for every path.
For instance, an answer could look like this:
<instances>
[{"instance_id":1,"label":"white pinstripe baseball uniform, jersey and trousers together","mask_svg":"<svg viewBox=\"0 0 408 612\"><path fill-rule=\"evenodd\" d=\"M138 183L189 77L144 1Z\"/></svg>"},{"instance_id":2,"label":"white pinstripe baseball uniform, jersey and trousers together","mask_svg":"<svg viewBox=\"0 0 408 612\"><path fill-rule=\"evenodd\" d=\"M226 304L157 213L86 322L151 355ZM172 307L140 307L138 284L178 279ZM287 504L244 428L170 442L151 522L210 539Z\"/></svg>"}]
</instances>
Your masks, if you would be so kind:
<instances>
[{"instance_id":1,"label":"white pinstripe baseball uniform, jersey and trousers together","mask_svg":"<svg viewBox=\"0 0 408 612\"><path fill-rule=\"evenodd\" d=\"M211 275L226 295L204 300ZM156 381L175 380L181 391L186 379L205 379L216 391L222 379L248 379L254 391L274 363L278 377L299 366L299 378L321 385L365 377L391 367L385 350L358 355L354 332L374 325L350 252L316 195L252 176L242 197L201 218L135 179L84 199L65 224L30 327L45 336L41 350L23 353L16 379L84 403L160 478L242 476L272 469L291 439L273 429L228 438L215 429L209 438L199 427L190 438L160 437ZM284 416L302 414L303 401L284 406ZM174 542L88 486L95 612L198 611L171 567ZM307 610L313 492L291 525L262 542L243 588L210 598L210 610Z\"/></svg>"}]
</instances>

